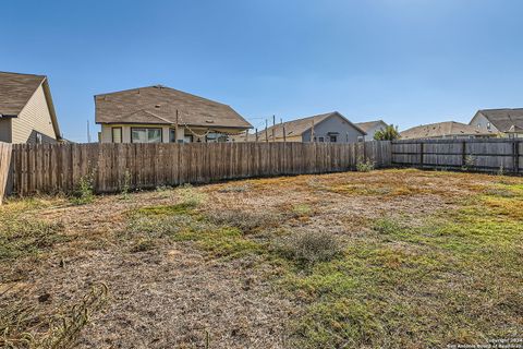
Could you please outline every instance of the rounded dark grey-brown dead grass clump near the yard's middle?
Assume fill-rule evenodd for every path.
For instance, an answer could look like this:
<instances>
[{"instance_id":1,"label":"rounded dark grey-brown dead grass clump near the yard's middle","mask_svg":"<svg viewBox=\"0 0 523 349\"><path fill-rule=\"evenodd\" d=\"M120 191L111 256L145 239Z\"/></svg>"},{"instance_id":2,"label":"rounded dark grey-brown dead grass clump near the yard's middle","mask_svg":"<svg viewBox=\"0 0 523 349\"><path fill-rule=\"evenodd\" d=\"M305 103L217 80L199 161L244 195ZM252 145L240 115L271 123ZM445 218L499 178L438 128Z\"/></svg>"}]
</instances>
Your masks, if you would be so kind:
<instances>
[{"instance_id":1,"label":"rounded dark grey-brown dead grass clump near the yard's middle","mask_svg":"<svg viewBox=\"0 0 523 349\"><path fill-rule=\"evenodd\" d=\"M341 243L332 233L307 231L285 238L279 250L285 258L309 265L335 258L341 253Z\"/></svg>"}]
</instances>

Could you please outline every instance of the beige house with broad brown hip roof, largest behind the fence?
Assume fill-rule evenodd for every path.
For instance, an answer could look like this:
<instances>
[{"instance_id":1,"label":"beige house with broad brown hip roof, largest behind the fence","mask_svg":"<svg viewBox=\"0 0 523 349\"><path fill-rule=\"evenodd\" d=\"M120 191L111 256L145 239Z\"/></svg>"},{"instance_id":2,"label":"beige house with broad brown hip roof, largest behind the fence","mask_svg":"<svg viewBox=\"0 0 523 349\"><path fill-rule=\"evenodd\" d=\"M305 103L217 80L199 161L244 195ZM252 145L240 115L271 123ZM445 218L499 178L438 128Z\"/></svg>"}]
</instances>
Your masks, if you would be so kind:
<instances>
[{"instance_id":1,"label":"beige house with broad brown hip roof, largest behind the fence","mask_svg":"<svg viewBox=\"0 0 523 349\"><path fill-rule=\"evenodd\" d=\"M102 143L227 142L252 129L231 107L157 85L96 95Z\"/></svg>"}]
</instances>

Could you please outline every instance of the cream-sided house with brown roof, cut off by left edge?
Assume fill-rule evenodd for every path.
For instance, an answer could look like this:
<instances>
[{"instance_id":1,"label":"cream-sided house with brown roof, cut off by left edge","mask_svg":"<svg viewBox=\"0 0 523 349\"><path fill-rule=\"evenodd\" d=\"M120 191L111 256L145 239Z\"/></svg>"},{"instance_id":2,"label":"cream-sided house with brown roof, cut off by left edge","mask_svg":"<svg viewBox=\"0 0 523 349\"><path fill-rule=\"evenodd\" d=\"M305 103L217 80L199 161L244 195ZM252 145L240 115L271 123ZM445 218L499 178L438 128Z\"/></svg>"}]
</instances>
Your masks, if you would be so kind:
<instances>
[{"instance_id":1,"label":"cream-sided house with brown roof, cut off by left edge","mask_svg":"<svg viewBox=\"0 0 523 349\"><path fill-rule=\"evenodd\" d=\"M0 142L38 144L60 140L47 76L0 72Z\"/></svg>"}]
</instances>

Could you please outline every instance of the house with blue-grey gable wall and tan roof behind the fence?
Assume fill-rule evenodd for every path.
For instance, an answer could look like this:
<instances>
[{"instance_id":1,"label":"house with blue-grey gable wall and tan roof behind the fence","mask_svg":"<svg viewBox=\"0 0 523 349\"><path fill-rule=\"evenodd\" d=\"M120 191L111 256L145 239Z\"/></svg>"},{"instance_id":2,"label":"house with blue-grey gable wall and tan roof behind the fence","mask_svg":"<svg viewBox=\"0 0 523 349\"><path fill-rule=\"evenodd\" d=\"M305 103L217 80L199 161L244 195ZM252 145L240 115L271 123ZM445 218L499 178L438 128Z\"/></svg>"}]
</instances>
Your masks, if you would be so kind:
<instances>
[{"instance_id":1,"label":"house with blue-grey gable wall and tan roof behind the fence","mask_svg":"<svg viewBox=\"0 0 523 349\"><path fill-rule=\"evenodd\" d=\"M338 111L278 123L257 134L258 142L352 143L364 137L365 131ZM248 141L255 140L256 135L248 135Z\"/></svg>"}]
</instances>

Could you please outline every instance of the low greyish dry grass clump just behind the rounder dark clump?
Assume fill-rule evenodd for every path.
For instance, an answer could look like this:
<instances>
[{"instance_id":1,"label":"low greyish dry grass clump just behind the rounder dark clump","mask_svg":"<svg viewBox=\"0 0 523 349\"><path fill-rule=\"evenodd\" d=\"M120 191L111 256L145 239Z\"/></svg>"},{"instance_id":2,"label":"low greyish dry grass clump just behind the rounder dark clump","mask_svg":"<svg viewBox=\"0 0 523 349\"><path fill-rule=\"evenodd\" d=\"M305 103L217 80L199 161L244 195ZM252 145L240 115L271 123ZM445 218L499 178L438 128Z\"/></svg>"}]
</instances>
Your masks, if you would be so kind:
<instances>
[{"instance_id":1,"label":"low greyish dry grass clump just behind the rounder dark clump","mask_svg":"<svg viewBox=\"0 0 523 349\"><path fill-rule=\"evenodd\" d=\"M218 226L234 227L243 233L258 229L269 229L278 226L282 217L272 213L254 213L244 210L214 210L207 214L207 219Z\"/></svg>"}]
</instances>

